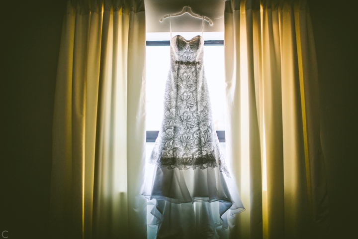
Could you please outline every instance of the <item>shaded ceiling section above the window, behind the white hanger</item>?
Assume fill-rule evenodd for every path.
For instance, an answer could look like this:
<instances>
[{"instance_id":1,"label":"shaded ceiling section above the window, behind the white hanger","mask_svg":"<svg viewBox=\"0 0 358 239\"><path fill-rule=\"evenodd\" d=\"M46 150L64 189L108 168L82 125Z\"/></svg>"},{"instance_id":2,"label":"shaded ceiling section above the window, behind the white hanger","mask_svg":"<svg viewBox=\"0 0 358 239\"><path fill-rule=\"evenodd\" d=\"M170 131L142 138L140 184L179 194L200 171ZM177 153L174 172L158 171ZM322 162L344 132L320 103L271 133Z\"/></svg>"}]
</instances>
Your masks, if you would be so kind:
<instances>
[{"instance_id":1,"label":"shaded ceiling section above the window, behind the white hanger","mask_svg":"<svg viewBox=\"0 0 358 239\"><path fill-rule=\"evenodd\" d=\"M213 21L212 26L204 21L205 32L224 31L225 0L145 0L147 32L169 32L169 18L163 22L159 19L166 14L180 12L188 4L194 13ZM173 32L201 32L202 20L189 14L172 17L171 22Z\"/></svg>"}]
</instances>

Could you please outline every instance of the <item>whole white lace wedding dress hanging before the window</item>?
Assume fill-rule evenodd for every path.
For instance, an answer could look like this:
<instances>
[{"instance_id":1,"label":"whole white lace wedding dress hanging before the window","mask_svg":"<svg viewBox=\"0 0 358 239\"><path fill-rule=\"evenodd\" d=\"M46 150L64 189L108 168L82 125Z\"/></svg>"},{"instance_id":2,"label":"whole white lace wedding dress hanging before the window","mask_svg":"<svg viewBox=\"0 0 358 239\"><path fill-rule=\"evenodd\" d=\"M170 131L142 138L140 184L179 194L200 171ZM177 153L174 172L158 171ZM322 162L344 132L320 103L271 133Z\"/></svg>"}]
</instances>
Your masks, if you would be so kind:
<instances>
[{"instance_id":1,"label":"whole white lace wedding dress hanging before the window","mask_svg":"<svg viewBox=\"0 0 358 239\"><path fill-rule=\"evenodd\" d=\"M227 220L245 210L214 129L203 64L204 40L171 39L164 116L143 195L155 200L149 225L157 239L219 238Z\"/></svg>"}]
</instances>

